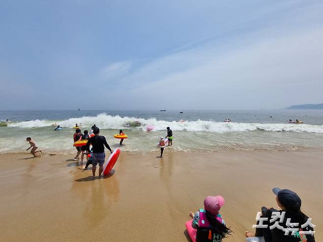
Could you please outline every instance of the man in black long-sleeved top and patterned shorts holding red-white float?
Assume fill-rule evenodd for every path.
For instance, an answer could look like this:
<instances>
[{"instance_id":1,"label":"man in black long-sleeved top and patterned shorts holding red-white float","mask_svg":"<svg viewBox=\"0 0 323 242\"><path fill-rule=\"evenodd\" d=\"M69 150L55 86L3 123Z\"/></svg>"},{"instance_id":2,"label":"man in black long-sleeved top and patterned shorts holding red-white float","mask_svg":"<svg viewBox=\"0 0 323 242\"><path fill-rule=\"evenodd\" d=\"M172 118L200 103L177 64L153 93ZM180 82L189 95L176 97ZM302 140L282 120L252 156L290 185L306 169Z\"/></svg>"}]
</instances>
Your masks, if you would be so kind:
<instances>
[{"instance_id":1,"label":"man in black long-sleeved top and patterned shorts holding red-white float","mask_svg":"<svg viewBox=\"0 0 323 242\"><path fill-rule=\"evenodd\" d=\"M87 150L90 152L90 144L92 144L93 160L92 160L92 174L95 176L96 166L99 163L99 176L101 176L103 171L103 164L106 158L106 153L104 152L104 147L112 153L110 146L107 143L106 137L100 134L100 129L95 127L93 129L93 137L90 137L86 143Z\"/></svg>"}]
</instances>

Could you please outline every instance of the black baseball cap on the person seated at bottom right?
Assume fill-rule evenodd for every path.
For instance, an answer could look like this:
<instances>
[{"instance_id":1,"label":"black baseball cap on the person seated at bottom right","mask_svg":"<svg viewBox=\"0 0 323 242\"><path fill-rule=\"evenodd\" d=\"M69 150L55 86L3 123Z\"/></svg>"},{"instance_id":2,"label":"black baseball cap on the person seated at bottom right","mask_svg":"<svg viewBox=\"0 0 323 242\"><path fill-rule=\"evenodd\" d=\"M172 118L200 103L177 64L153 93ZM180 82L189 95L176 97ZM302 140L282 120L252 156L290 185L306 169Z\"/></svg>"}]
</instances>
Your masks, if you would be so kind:
<instances>
[{"instance_id":1,"label":"black baseball cap on the person seated at bottom right","mask_svg":"<svg viewBox=\"0 0 323 242\"><path fill-rule=\"evenodd\" d=\"M272 188L272 192L278 197L279 202L287 211L297 212L300 210L302 200L296 192L289 189Z\"/></svg>"}]
</instances>

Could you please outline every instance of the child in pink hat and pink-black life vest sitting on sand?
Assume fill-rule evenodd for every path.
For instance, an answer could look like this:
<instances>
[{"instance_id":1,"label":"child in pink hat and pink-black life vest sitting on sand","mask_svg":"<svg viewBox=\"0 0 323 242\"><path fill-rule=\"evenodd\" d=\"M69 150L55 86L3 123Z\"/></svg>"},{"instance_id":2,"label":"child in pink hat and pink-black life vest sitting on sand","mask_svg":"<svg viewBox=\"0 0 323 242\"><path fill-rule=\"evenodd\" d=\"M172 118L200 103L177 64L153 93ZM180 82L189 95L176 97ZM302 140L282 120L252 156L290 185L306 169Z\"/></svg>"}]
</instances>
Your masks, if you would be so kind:
<instances>
[{"instance_id":1,"label":"child in pink hat and pink-black life vest sitting on sand","mask_svg":"<svg viewBox=\"0 0 323 242\"><path fill-rule=\"evenodd\" d=\"M188 235L193 242L222 242L223 238L233 232L227 228L220 208L224 205L222 196L207 196L204 200L204 209L189 213L192 220L186 223Z\"/></svg>"}]
</instances>

